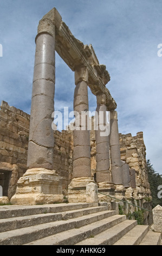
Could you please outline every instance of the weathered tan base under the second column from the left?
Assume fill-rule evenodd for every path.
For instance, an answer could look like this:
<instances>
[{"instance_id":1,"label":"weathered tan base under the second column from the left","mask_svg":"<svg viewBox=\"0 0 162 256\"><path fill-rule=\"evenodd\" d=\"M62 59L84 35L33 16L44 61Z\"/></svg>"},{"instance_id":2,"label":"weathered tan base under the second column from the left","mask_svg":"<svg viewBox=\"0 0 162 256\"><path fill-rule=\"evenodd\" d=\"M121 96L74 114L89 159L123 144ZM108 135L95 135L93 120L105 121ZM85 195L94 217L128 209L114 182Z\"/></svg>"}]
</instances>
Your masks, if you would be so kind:
<instances>
[{"instance_id":1,"label":"weathered tan base under the second column from the left","mask_svg":"<svg viewBox=\"0 0 162 256\"><path fill-rule=\"evenodd\" d=\"M90 177L81 177L81 178L72 179L72 181L68 186L68 202L69 203L98 202L98 198L96 197L93 197L94 199L90 198L89 193L86 190L86 187L90 182L93 182L93 184L95 185L94 179Z\"/></svg>"}]
</instances>

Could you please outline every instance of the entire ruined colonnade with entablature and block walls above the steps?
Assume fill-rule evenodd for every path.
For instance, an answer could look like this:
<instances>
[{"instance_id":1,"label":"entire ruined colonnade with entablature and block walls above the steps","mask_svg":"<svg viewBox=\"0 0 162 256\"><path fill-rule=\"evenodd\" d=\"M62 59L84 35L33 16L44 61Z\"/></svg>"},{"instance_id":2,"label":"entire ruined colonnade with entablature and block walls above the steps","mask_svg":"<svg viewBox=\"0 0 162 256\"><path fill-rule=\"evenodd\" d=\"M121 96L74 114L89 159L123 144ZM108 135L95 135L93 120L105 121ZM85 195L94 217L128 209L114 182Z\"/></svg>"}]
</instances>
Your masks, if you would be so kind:
<instances>
[{"instance_id":1,"label":"entire ruined colonnade with entablature and block walls above the steps","mask_svg":"<svg viewBox=\"0 0 162 256\"><path fill-rule=\"evenodd\" d=\"M2 102L0 197L12 204L113 202L102 192L150 208L145 145L118 131L110 77L92 45L83 45L54 8L39 22L31 115ZM110 112L109 135L96 130L53 131L55 51L75 74L74 111L88 110L88 87L96 112ZM105 120L103 120L105 125Z\"/></svg>"}]
</instances>

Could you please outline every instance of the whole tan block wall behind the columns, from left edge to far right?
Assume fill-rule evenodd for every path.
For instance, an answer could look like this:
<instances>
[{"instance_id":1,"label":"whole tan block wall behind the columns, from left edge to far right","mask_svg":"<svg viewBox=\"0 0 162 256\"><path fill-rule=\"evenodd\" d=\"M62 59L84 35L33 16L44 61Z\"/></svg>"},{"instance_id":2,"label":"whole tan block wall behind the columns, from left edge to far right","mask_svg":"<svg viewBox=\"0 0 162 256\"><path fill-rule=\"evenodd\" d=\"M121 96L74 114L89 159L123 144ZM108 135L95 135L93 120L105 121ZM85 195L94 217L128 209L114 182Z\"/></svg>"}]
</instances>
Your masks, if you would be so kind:
<instances>
[{"instance_id":1,"label":"whole tan block wall behind the columns, from left edge to far right","mask_svg":"<svg viewBox=\"0 0 162 256\"><path fill-rule=\"evenodd\" d=\"M10 107L2 102L0 110L0 185L3 196L11 198L16 190L17 180L27 170L27 150L29 137L30 115L20 109ZM93 125L92 125L93 127ZM73 172L73 132L54 132L54 166L62 177L63 194L72 180ZM143 133L119 133L121 160L125 161L131 170L135 170L136 187L126 188L126 199L140 200L140 204L150 202L150 187L146 171L146 148ZM91 173L95 179L96 172L96 142L95 131L90 131ZM131 199L133 198L133 199ZM133 202L133 201L132 201Z\"/></svg>"}]
</instances>

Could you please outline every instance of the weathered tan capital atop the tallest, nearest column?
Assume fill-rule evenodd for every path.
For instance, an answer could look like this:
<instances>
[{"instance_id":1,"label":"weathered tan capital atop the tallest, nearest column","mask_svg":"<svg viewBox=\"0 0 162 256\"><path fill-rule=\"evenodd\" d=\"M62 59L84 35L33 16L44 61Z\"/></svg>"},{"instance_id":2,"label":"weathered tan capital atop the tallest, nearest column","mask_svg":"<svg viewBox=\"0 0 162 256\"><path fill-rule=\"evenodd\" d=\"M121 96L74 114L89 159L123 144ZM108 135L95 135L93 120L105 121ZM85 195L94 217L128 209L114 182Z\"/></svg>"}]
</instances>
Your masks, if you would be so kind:
<instances>
[{"instance_id":1,"label":"weathered tan capital atop the tallest, nearest column","mask_svg":"<svg viewBox=\"0 0 162 256\"><path fill-rule=\"evenodd\" d=\"M37 39L37 36L42 33L48 33L53 36L53 38L55 38L55 26L50 19L44 18L39 21L35 41Z\"/></svg>"}]
</instances>

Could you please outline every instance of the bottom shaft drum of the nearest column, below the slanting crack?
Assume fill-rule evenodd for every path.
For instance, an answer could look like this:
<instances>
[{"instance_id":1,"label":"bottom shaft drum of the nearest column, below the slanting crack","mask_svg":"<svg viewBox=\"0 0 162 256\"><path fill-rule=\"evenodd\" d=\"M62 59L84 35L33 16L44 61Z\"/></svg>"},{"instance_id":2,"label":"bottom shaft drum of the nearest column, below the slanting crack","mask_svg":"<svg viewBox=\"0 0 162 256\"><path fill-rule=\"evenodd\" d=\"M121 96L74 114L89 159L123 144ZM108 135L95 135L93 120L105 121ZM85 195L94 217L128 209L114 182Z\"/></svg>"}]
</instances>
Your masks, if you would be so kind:
<instances>
[{"instance_id":1,"label":"bottom shaft drum of the nearest column, below the slanting crack","mask_svg":"<svg viewBox=\"0 0 162 256\"><path fill-rule=\"evenodd\" d=\"M29 142L27 166L31 168L53 169L54 148L46 148Z\"/></svg>"}]
</instances>

